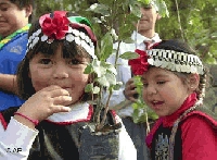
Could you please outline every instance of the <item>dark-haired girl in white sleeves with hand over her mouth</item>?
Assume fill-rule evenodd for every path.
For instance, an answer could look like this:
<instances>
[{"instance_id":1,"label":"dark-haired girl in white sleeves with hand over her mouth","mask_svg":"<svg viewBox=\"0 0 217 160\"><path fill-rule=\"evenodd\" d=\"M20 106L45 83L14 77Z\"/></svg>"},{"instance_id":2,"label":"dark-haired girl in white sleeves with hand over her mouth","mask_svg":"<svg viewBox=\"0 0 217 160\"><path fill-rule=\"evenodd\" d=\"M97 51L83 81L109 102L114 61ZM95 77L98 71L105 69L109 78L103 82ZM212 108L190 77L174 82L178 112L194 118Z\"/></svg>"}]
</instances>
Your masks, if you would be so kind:
<instances>
[{"instance_id":1,"label":"dark-haired girl in white sleeves with hand over her mouth","mask_svg":"<svg viewBox=\"0 0 217 160\"><path fill-rule=\"evenodd\" d=\"M92 95L85 93L92 75L84 71L97 58L95 45L89 21L67 17L65 11L44 14L31 25L26 57L17 72L20 95L27 100L0 114L1 160L79 159L78 128L93 114L93 107L87 103ZM112 113L107 113L112 115L107 123L118 123ZM124 126L117 157L137 157Z\"/></svg>"}]
</instances>

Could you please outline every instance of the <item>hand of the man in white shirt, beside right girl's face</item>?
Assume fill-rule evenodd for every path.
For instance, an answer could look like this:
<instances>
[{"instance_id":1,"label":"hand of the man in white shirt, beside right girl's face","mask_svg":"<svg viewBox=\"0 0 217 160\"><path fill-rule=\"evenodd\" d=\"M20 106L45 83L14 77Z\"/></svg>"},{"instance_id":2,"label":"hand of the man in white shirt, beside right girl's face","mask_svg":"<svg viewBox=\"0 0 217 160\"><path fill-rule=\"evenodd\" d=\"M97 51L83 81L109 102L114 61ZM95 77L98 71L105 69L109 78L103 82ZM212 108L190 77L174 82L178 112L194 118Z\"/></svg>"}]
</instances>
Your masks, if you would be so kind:
<instances>
[{"instance_id":1,"label":"hand of the man in white shirt, beside right girl's face","mask_svg":"<svg viewBox=\"0 0 217 160\"><path fill-rule=\"evenodd\" d=\"M137 101L138 93L137 93L137 90L136 90L136 85L135 85L135 83L133 83L133 77L130 78L130 79L126 83L126 85L125 85L125 90L124 90L124 95L125 95L125 97L126 97L128 100L130 100L130 101L132 101L132 102Z\"/></svg>"}]
</instances>

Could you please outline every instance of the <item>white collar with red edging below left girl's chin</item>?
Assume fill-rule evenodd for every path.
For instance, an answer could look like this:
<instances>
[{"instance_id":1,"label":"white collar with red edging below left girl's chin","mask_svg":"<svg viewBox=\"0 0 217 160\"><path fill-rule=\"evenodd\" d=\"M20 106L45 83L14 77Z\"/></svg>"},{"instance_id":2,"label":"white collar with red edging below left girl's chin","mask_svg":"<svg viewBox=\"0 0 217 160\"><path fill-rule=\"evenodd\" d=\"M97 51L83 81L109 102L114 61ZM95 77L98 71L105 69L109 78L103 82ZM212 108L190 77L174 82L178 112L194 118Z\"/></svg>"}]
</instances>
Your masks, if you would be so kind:
<instances>
[{"instance_id":1,"label":"white collar with red edging below left girl's chin","mask_svg":"<svg viewBox=\"0 0 217 160\"><path fill-rule=\"evenodd\" d=\"M88 122L93 113L93 107L89 103L77 103L72 107L69 112L54 113L47 121L58 124L73 124L77 122Z\"/></svg>"}]
</instances>

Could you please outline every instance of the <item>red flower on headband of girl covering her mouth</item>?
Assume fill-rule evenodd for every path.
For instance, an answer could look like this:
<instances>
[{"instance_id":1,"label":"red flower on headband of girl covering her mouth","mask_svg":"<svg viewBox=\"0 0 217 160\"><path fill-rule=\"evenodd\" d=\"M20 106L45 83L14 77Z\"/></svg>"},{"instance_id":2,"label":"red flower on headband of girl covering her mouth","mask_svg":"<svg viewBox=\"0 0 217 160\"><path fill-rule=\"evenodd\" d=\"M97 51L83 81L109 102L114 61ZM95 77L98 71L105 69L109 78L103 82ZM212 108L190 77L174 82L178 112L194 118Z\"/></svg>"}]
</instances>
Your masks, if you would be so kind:
<instances>
[{"instance_id":1,"label":"red flower on headband of girl covering her mouth","mask_svg":"<svg viewBox=\"0 0 217 160\"><path fill-rule=\"evenodd\" d=\"M54 11L53 15L44 14L39 19L42 33L50 39L63 39L68 32L69 20L66 11Z\"/></svg>"}]
</instances>

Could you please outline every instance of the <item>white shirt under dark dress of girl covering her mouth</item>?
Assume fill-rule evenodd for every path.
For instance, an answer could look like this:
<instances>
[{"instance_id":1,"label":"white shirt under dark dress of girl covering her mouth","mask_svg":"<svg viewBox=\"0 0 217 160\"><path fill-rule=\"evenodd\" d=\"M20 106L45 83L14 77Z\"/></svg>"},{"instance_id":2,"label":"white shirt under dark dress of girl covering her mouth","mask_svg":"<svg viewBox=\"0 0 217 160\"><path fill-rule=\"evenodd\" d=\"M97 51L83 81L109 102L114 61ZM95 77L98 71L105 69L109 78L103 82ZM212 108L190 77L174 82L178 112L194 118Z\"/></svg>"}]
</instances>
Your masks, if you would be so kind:
<instances>
[{"instance_id":1,"label":"white shirt under dark dress of girl covering her mouth","mask_svg":"<svg viewBox=\"0 0 217 160\"><path fill-rule=\"evenodd\" d=\"M90 119L91 108L88 103L75 104L69 112L54 113L47 120L53 123L76 123ZM13 116L8 124L7 130L3 127L3 118L0 114L0 160L26 160L31 145L38 135L37 130L29 127L17 122ZM122 123L118 115L115 116L117 122ZM122 123L123 124L123 123ZM8 152L8 148L21 148L18 152ZM137 150L135 145L126 132L124 124L119 132L119 152L118 160L137 160Z\"/></svg>"}]
</instances>

